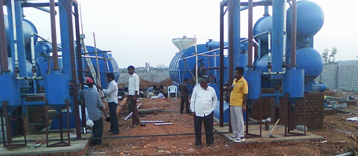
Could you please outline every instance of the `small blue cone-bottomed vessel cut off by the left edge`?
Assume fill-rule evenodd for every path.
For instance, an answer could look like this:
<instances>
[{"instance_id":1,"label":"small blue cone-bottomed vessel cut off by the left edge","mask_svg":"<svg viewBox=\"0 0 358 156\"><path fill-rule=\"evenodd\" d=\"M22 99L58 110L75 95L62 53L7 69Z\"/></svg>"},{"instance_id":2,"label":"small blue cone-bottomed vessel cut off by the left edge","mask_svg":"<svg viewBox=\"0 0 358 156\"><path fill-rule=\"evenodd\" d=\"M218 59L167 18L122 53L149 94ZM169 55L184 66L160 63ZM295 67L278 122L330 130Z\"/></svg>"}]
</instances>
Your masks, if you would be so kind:
<instances>
[{"instance_id":1,"label":"small blue cone-bottomed vessel cut off by the left edge","mask_svg":"<svg viewBox=\"0 0 358 156\"><path fill-rule=\"evenodd\" d=\"M2 91L0 102L7 101L7 110L11 113L12 110L21 104L19 82L14 75L0 75L0 83L2 84L0 85L0 90ZM1 104L0 108L4 109L4 106Z\"/></svg>"}]
</instances>

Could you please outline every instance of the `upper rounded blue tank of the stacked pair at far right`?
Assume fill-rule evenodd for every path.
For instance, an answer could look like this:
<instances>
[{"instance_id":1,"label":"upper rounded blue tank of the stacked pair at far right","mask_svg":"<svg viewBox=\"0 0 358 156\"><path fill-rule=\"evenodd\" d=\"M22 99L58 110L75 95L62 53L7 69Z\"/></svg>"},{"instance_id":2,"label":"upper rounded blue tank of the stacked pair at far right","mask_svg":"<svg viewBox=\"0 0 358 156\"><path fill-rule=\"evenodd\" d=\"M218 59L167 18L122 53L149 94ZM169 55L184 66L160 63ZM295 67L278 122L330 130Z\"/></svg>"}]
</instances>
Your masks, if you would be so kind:
<instances>
[{"instance_id":1,"label":"upper rounded blue tank of the stacked pair at far right","mask_svg":"<svg viewBox=\"0 0 358 156\"><path fill-rule=\"evenodd\" d=\"M292 9L287 9L287 33L291 33ZM317 34L324 23L322 8L315 2L297 2L297 36L309 37Z\"/></svg>"}]
</instances>

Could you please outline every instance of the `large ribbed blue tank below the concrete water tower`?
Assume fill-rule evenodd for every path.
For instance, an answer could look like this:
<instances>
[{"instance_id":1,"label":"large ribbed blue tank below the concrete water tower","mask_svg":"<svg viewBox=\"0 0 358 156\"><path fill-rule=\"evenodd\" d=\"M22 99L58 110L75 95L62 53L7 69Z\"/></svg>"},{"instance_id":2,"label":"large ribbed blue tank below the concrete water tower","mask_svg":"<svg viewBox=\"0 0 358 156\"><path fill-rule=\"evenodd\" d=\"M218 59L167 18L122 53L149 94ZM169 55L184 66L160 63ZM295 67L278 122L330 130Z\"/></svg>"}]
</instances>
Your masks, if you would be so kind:
<instances>
[{"instance_id":1,"label":"large ribbed blue tank below the concrete water tower","mask_svg":"<svg viewBox=\"0 0 358 156\"><path fill-rule=\"evenodd\" d=\"M198 54L207 52L208 48L206 47L205 44L198 44L197 45L197 52ZM181 51L180 53L182 53L183 57L189 57L189 56L193 56L193 54L195 54L195 46L192 46L186 50ZM191 73L194 75L195 77L195 56L194 57L190 57L190 58L186 58L186 61L184 61L182 58L182 55L180 53L176 53L175 56L172 58L172 60L170 61L169 64L169 76L171 78L172 81L180 84L181 81L183 81L185 78L189 79L192 78L193 76L191 75ZM208 54L211 55L211 54ZM180 60L182 59L182 60ZM198 56L198 60L203 60L202 63L198 63L198 68L200 67L208 67L208 64L214 64L214 62L209 62L208 57L207 56ZM216 63L217 65L219 63ZM190 73L191 71L191 73ZM184 77L183 77L183 73L184 73ZM200 75L203 75L205 73L203 73L202 71L199 71L198 75L200 77ZM188 85L189 88L191 88L191 85Z\"/></svg>"}]
</instances>

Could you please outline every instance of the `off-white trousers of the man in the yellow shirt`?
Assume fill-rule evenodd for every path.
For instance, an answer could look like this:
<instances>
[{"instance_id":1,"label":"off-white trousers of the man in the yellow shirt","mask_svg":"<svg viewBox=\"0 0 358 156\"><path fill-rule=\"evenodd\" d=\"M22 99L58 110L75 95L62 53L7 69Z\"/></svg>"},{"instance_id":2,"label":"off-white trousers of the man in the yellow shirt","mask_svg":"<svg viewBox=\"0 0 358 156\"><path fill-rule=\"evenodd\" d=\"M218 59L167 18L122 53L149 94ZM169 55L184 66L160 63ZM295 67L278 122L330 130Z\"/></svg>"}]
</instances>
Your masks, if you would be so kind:
<instances>
[{"instance_id":1,"label":"off-white trousers of the man in the yellow shirt","mask_svg":"<svg viewBox=\"0 0 358 156\"><path fill-rule=\"evenodd\" d=\"M244 136L244 123L241 106L230 106L231 127L235 137Z\"/></svg>"}]
</instances>

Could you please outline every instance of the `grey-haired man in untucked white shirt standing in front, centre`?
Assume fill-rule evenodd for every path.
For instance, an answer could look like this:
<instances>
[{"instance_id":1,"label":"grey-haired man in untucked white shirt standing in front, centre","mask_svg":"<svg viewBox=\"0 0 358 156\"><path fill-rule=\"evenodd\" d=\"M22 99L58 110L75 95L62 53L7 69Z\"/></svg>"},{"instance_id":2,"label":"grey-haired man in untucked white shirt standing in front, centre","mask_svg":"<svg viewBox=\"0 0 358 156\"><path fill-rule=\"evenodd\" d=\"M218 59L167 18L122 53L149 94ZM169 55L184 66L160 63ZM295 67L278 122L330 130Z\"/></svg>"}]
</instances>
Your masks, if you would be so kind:
<instances>
[{"instance_id":1,"label":"grey-haired man in untucked white shirt standing in front, centre","mask_svg":"<svg viewBox=\"0 0 358 156\"><path fill-rule=\"evenodd\" d=\"M209 78L202 77L200 86L193 90L190 100L191 115L194 117L195 145L196 149L202 147L202 123L204 122L207 146L214 144L214 110L216 108L217 96L213 87L208 85Z\"/></svg>"}]
</instances>

